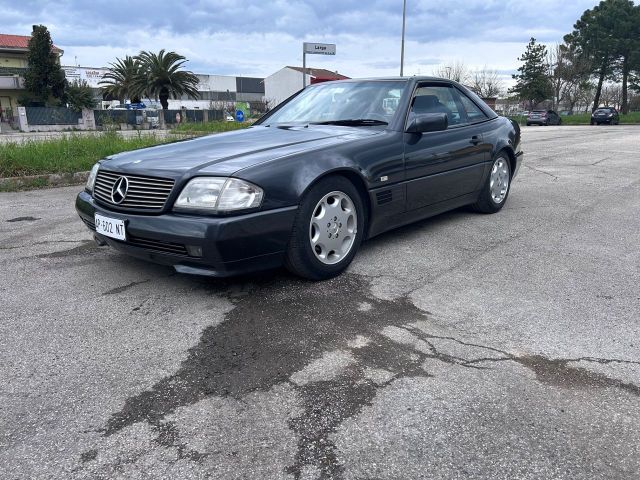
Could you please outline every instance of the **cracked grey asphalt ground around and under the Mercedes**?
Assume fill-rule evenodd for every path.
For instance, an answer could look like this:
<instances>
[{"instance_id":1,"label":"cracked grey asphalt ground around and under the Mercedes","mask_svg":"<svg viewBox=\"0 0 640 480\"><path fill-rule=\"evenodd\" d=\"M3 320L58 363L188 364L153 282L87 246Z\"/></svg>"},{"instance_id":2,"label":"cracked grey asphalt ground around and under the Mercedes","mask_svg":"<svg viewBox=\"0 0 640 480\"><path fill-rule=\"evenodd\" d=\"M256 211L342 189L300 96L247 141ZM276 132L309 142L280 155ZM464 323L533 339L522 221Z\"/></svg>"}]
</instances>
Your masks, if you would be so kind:
<instances>
[{"instance_id":1,"label":"cracked grey asphalt ground around and under the Mercedes","mask_svg":"<svg viewBox=\"0 0 640 480\"><path fill-rule=\"evenodd\" d=\"M215 280L0 194L0 478L640 477L640 128L523 128L496 215Z\"/></svg>"}]
</instances>

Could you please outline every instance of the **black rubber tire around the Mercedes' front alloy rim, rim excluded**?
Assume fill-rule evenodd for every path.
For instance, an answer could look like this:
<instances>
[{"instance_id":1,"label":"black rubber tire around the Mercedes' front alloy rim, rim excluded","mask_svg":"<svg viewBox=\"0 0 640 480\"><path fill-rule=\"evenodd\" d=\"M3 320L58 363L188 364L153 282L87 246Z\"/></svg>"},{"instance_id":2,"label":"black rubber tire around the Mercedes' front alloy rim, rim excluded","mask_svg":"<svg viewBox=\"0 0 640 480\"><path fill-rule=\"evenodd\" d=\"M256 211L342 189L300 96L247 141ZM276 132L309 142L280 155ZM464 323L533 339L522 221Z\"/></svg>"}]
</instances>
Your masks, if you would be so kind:
<instances>
[{"instance_id":1,"label":"black rubber tire around the Mercedes' front alloy rim, rim excluded","mask_svg":"<svg viewBox=\"0 0 640 480\"><path fill-rule=\"evenodd\" d=\"M355 240L349 252L334 264L322 263L314 253L310 238L310 223L318 202L331 192L346 194L356 210L357 228ZM366 224L366 208L358 189L343 176L325 177L313 185L304 195L293 223L285 257L285 267L291 273L309 280L325 280L342 273L351 263L360 247Z\"/></svg>"}]
</instances>

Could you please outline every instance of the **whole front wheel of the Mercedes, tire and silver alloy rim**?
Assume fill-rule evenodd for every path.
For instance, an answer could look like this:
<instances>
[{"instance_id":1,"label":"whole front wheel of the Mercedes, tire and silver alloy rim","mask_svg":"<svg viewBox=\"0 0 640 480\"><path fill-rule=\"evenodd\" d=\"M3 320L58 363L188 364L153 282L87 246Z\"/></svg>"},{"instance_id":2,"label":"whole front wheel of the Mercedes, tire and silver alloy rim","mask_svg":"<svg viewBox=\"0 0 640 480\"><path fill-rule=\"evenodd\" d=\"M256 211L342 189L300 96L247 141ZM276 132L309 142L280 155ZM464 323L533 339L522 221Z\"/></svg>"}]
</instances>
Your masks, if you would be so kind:
<instances>
[{"instance_id":1,"label":"whole front wheel of the Mercedes, tire and silver alloy rim","mask_svg":"<svg viewBox=\"0 0 640 480\"><path fill-rule=\"evenodd\" d=\"M341 176L320 180L300 203L285 266L310 280L342 273L360 247L364 225L365 208L358 189Z\"/></svg>"}]
</instances>

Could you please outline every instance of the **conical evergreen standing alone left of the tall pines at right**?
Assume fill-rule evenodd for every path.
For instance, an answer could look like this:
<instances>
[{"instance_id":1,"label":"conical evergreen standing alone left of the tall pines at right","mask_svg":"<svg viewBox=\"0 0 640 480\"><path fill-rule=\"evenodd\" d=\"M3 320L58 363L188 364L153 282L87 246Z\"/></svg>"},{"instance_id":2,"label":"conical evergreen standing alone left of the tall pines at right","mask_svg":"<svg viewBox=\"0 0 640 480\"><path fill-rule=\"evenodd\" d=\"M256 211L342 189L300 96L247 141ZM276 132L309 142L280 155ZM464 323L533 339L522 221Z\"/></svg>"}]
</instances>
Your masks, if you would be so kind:
<instances>
[{"instance_id":1,"label":"conical evergreen standing alone left of the tall pines at right","mask_svg":"<svg viewBox=\"0 0 640 480\"><path fill-rule=\"evenodd\" d=\"M509 92L526 101L531 110L553 95L547 64L547 47L531 38L524 54L518 57L518 60L523 64L518 68L519 73L513 75L516 85Z\"/></svg>"}]
</instances>

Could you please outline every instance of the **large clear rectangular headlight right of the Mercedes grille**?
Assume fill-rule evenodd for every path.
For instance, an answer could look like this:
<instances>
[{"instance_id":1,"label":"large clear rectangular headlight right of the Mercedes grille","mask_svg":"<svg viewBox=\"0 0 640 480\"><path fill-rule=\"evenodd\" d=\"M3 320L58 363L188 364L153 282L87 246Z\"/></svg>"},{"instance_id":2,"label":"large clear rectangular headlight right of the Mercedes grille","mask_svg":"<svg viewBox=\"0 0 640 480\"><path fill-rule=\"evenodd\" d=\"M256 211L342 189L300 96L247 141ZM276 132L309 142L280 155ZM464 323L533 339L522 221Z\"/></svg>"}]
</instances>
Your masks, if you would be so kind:
<instances>
[{"instance_id":1,"label":"large clear rectangular headlight right of the Mercedes grille","mask_svg":"<svg viewBox=\"0 0 640 480\"><path fill-rule=\"evenodd\" d=\"M198 177L187 183L174 205L177 209L232 212L259 207L263 191L237 178Z\"/></svg>"}]
</instances>

